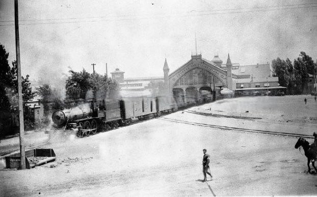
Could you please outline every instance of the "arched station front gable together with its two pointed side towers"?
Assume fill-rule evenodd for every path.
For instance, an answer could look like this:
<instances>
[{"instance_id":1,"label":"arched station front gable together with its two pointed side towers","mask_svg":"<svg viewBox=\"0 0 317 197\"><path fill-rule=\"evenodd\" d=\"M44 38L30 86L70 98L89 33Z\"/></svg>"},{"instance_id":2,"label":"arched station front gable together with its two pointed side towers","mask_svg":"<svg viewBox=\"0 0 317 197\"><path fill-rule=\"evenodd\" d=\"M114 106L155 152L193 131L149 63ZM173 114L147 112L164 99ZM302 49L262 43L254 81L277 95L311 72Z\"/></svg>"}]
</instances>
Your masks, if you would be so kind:
<instances>
[{"instance_id":1,"label":"arched station front gable together with its two pointed side towers","mask_svg":"<svg viewBox=\"0 0 317 197\"><path fill-rule=\"evenodd\" d=\"M226 87L232 89L231 61L228 55L227 70L201 57L201 54L192 55L191 60L169 74L169 67L165 60L164 85L172 92L176 100L184 103L195 100L199 91L212 92L215 89Z\"/></svg>"}]
</instances>

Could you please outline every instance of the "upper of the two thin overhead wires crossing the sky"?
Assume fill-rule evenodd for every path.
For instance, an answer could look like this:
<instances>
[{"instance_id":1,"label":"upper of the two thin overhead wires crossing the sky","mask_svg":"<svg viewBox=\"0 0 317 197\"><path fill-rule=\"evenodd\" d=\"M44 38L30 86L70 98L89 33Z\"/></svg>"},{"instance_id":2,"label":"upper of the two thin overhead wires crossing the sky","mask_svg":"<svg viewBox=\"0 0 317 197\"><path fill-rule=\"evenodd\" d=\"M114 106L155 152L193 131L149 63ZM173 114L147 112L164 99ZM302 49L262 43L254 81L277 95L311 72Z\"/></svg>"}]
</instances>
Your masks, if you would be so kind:
<instances>
[{"instance_id":1,"label":"upper of the two thin overhead wires crossing the sky","mask_svg":"<svg viewBox=\"0 0 317 197\"><path fill-rule=\"evenodd\" d=\"M245 9L261 9L261 8L276 8L276 7L287 7L287 6L303 6L303 5L314 5L317 3L309 3L309 4L290 4L290 5L279 5L279 6L265 6L265 7L252 7L252 8L235 8L235 9L222 9L222 10L201 10L194 12L219 12L219 11L231 11L231 10L245 10ZM297 7L301 8L301 7ZM306 7L305 7L306 8ZM187 12L192 13L192 11ZM163 15L163 14L155 14L155 15ZM121 15L121 16L110 16L110 17L127 17L127 16L146 16L145 14L141 15ZM73 17L73 18L52 18L52 19L32 19L32 20L19 20L19 21L45 21L45 20L73 20L73 19L89 19L89 18L106 18L107 16L92 16L92 17ZM14 20L4 20L0 22L14 22Z\"/></svg>"}]
</instances>

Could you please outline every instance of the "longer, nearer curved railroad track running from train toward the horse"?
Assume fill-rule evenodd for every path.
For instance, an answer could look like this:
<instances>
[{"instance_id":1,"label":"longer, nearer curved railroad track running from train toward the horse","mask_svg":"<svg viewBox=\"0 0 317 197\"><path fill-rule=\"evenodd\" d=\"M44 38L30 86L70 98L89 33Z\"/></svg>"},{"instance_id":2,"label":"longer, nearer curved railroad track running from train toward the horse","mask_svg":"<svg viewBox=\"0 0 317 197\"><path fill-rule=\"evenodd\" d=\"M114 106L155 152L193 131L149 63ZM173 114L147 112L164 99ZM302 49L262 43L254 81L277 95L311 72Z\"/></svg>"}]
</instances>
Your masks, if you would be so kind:
<instances>
[{"instance_id":1,"label":"longer, nearer curved railroad track running from train toward the horse","mask_svg":"<svg viewBox=\"0 0 317 197\"><path fill-rule=\"evenodd\" d=\"M160 117L158 119L169 121L169 122L176 122L176 123L189 124L189 125L197 125L197 126L201 126L201 127L211 127L211 128L217 128L217 129L244 131L244 132L251 132L251 133L265 133L265 134L271 134L271 135L283 135L283 136L292 136L292 137L314 138L314 136L312 136L312 135L299 134L299 133L287 133L287 132L276 132L276 131L266 131L266 130L257 130L257 129L244 129L244 128L239 128L239 127L227 127L227 126L219 126L219 125L213 125L213 124L203 124L203 123L182 121L182 120L170 119L170 118L165 118L165 117Z\"/></svg>"}]
</instances>

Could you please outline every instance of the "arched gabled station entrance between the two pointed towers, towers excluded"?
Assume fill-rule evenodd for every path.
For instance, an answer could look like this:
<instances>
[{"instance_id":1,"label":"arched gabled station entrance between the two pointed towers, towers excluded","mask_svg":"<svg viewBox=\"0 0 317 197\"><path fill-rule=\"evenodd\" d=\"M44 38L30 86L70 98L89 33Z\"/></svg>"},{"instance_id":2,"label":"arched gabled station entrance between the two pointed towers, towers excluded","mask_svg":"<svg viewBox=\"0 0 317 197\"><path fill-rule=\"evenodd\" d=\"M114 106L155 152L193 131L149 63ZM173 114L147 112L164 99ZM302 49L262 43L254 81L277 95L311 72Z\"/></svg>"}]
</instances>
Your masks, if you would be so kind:
<instances>
[{"instance_id":1,"label":"arched gabled station entrance between the two pointed towers, towers excluded","mask_svg":"<svg viewBox=\"0 0 317 197\"><path fill-rule=\"evenodd\" d=\"M169 89L179 106L211 101L212 91L227 86L227 73L216 64L192 55L169 75Z\"/></svg>"}]
</instances>

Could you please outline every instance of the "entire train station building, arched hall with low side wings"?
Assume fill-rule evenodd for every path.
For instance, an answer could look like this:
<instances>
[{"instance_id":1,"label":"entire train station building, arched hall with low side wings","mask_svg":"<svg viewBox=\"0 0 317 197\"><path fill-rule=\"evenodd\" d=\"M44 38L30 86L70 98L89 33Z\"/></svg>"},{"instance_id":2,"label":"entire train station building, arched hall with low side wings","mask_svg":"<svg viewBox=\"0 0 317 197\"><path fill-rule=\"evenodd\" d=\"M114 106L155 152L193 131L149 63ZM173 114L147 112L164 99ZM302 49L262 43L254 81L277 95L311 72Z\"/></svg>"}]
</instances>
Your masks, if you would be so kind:
<instances>
[{"instance_id":1,"label":"entire train station building, arched hall with low side wings","mask_svg":"<svg viewBox=\"0 0 317 197\"><path fill-rule=\"evenodd\" d=\"M283 91L280 87L278 77L272 76L270 64L256 64L241 66L239 63L232 63L228 54L225 63L215 55L209 61L202 58L201 54L194 54L191 59L170 72L168 62L165 59L163 76L124 78L124 72L116 69L112 72L120 85L121 90L143 91L151 87L151 81L164 81L165 90L173 93L175 97L193 97L201 91L220 91L223 88L239 93Z\"/></svg>"}]
</instances>

